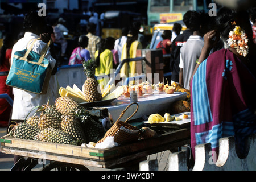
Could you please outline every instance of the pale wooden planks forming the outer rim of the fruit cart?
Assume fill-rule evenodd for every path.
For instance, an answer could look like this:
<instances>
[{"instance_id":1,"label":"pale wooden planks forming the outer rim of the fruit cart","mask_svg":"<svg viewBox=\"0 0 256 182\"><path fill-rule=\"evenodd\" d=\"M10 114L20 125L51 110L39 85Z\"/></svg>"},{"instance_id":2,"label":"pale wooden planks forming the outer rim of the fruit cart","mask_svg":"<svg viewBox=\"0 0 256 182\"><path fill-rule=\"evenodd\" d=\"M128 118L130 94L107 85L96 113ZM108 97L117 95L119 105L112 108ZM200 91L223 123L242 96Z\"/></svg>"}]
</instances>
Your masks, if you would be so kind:
<instances>
[{"instance_id":1,"label":"pale wooden planks forming the outer rim of the fruit cart","mask_svg":"<svg viewBox=\"0 0 256 182\"><path fill-rule=\"evenodd\" d=\"M34 157L40 158L41 156L36 156L36 154L51 154L56 156L63 156L64 158L74 158L83 160L94 160L97 162L102 162L98 164L104 165L107 161L112 161L112 159L122 158L124 156L130 156L131 154L136 154L141 151L151 150L152 148L159 148L166 146L170 143L174 143L180 140L186 140L190 138L189 129L180 129L176 131L171 131L170 133L158 135L157 137L139 140L138 142L125 144L118 147L97 149L97 148L87 148L81 146L73 146L68 144L56 144L48 142L40 142L34 140L24 140L13 137L2 138L4 140L11 140L11 142L1 143L2 152L6 148L14 148L11 154L20 155L22 151L24 154L26 152L34 151ZM10 152L10 150L9 150ZM92 155L92 153L98 155ZM30 153L31 154L31 153ZM23 155L25 156L25 155Z\"/></svg>"}]
</instances>

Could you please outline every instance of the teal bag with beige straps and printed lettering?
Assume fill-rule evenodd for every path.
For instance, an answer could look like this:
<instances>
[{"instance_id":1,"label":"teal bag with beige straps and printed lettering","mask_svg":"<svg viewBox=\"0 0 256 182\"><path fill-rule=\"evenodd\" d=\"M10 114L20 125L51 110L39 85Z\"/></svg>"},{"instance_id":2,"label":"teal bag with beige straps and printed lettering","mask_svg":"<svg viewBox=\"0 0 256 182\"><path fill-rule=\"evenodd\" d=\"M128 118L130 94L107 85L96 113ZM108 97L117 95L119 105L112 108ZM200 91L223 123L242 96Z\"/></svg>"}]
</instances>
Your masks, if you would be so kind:
<instances>
[{"instance_id":1,"label":"teal bag with beige straps and printed lettering","mask_svg":"<svg viewBox=\"0 0 256 182\"><path fill-rule=\"evenodd\" d=\"M41 54L32 51L37 39L28 42L27 49L14 53L13 63L6 80L6 85L36 94L46 94L52 68L46 52L52 39L43 48ZM32 43L31 43L32 42Z\"/></svg>"}]
</instances>

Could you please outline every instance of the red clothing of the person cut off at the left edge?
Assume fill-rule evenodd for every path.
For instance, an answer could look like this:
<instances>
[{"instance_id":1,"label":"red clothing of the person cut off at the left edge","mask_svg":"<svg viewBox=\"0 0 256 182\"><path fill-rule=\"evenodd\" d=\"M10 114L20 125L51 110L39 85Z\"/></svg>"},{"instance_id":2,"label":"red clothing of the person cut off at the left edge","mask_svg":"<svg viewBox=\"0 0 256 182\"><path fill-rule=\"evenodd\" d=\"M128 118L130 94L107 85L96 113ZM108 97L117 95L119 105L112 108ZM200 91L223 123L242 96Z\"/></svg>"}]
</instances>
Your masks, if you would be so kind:
<instances>
[{"instance_id":1,"label":"red clothing of the person cut off at the left edge","mask_svg":"<svg viewBox=\"0 0 256 182\"><path fill-rule=\"evenodd\" d=\"M6 50L5 60L0 66L0 72L9 71L11 58L11 49ZM7 76L0 76L0 94L7 93L13 99L13 89L5 84ZM11 117L12 106L5 98L0 99L0 127L7 127Z\"/></svg>"}]
</instances>

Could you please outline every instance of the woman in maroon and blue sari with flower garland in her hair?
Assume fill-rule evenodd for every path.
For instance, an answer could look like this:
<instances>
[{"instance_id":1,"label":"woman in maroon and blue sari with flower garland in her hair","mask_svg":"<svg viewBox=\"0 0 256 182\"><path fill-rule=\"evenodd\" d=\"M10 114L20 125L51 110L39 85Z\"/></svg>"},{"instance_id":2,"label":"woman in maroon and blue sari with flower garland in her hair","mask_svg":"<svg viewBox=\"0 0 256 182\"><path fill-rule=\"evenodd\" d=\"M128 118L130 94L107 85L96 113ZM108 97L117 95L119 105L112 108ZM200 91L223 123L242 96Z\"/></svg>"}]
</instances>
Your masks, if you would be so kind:
<instances>
[{"instance_id":1,"label":"woman in maroon and blue sari with flower garland in her hair","mask_svg":"<svg viewBox=\"0 0 256 182\"><path fill-rule=\"evenodd\" d=\"M191 78L191 146L210 143L218 156L219 139L234 136L238 156L246 156L246 140L256 132L255 44L246 11L223 8L218 27L204 35ZM210 50L219 38L225 49Z\"/></svg>"}]
</instances>

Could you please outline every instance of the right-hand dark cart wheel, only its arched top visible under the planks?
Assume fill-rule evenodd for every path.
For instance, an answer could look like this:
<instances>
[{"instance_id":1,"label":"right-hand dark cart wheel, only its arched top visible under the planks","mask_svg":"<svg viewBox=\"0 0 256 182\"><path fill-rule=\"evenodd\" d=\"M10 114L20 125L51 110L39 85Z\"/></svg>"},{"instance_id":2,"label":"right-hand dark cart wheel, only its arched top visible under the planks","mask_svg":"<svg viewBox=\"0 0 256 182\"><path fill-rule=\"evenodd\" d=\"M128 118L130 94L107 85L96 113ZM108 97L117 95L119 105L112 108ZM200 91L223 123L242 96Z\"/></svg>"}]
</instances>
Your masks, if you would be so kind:
<instances>
[{"instance_id":1,"label":"right-hand dark cart wheel, only its arched top visible under the planks","mask_svg":"<svg viewBox=\"0 0 256 182\"><path fill-rule=\"evenodd\" d=\"M46 164L42 171L89 171L89 169L83 165L63 163L63 162L51 162Z\"/></svg>"}]
</instances>

